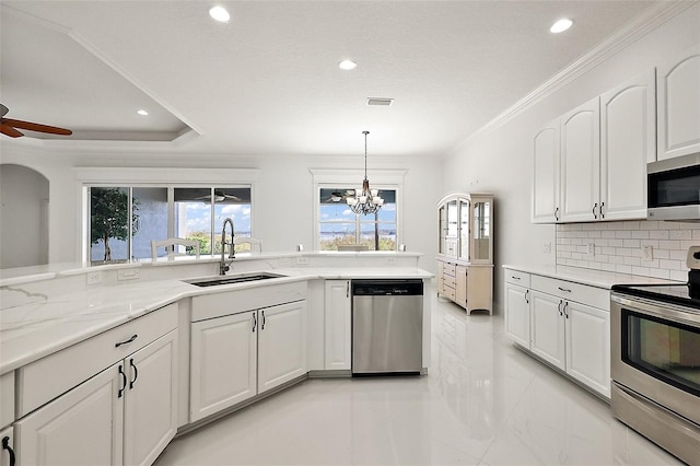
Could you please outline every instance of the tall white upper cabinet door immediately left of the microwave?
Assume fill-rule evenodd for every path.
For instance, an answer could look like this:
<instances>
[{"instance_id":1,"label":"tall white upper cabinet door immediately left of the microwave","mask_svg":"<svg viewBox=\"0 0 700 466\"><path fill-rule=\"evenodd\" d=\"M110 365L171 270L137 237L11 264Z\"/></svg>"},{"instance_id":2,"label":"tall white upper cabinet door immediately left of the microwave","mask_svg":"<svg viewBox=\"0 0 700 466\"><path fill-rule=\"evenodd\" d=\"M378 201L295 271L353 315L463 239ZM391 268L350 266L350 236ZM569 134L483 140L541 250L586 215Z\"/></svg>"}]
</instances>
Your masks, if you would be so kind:
<instances>
[{"instance_id":1,"label":"tall white upper cabinet door immediately left of the microwave","mask_svg":"<svg viewBox=\"0 0 700 466\"><path fill-rule=\"evenodd\" d=\"M600 96L600 220L646 218L646 164L656 159L655 75Z\"/></svg>"}]
</instances>

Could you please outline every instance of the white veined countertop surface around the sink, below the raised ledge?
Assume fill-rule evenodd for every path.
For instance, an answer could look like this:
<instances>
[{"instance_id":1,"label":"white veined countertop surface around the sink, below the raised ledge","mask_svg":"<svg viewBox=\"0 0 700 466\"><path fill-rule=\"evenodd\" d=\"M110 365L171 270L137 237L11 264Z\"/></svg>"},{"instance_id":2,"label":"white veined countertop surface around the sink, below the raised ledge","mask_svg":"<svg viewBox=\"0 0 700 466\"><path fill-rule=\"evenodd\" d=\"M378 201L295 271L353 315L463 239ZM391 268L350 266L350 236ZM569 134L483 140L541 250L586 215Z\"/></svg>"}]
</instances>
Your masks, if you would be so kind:
<instances>
[{"instance_id":1,"label":"white veined countertop surface around the sink, below the raised ledge","mask_svg":"<svg viewBox=\"0 0 700 466\"><path fill-rule=\"evenodd\" d=\"M0 289L0 374L184 298L311 279L433 277L416 267L300 267L259 271L285 277L207 288L179 279L130 281L72 291L48 286L43 290L36 283L31 288L5 284Z\"/></svg>"}]
</instances>

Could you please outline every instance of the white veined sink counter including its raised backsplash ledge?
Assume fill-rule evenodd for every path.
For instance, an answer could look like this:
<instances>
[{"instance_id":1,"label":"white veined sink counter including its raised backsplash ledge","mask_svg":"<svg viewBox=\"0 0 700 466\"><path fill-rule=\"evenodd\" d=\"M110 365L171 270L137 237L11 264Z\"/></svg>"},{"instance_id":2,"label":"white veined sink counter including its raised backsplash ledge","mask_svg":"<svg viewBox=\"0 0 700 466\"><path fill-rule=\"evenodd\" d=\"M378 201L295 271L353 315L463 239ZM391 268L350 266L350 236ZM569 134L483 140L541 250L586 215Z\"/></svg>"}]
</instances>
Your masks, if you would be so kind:
<instances>
[{"instance_id":1,"label":"white veined sink counter including its raised backsplash ledge","mask_svg":"<svg viewBox=\"0 0 700 466\"><path fill-rule=\"evenodd\" d=\"M283 277L206 288L183 280L214 277L219 259L213 257L97 267L46 266L31 268L25 275L3 270L0 281L0 374L196 295L264 290L272 283L316 279L430 280L432 273L417 267L419 257L416 253L242 256L234 259L233 271L228 275L256 271ZM329 261L339 265L334 267ZM120 271L132 273L132 270L139 271L139 279L117 279ZM86 275L94 272L102 273L102 282L85 284ZM167 278L158 279L161 275Z\"/></svg>"}]
</instances>

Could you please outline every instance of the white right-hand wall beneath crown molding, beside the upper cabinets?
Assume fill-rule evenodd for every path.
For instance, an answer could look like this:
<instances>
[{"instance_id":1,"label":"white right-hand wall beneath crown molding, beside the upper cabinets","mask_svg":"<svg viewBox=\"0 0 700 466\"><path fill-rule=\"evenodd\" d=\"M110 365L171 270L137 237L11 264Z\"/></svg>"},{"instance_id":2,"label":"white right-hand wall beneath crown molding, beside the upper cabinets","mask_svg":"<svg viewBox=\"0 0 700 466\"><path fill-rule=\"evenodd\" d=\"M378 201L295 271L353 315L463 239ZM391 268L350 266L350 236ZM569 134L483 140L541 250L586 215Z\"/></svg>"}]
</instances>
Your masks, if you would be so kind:
<instances>
[{"instance_id":1,"label":"white right-hand wall beneath crown molding, beside the upper cabinets","mask_svg":"<svg viewBox=\"0 0 700 466\"><path fill-rule=\"evenodd\" d=\"M495 195L497 307L502 301L503 264L556 264L555 225L529 221L533 136L564 112L699 44L699 25L700 4L696 3L515 118L477 135L447 154L443 164L445 190ZM550 253L544 252L545 243L552 245Z\"/></svg>"}]
</instances>

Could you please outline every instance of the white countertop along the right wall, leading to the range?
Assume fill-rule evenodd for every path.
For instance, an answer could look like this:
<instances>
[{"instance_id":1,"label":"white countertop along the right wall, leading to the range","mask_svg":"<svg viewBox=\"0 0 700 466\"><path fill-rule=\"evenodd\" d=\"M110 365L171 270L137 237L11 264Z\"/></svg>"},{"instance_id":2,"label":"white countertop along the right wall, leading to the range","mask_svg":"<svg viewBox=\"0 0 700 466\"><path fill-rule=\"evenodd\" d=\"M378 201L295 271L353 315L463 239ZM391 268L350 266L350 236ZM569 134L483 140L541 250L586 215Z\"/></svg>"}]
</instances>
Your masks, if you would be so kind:
<instances>
[{"instance_id":1,"label":"white countertop along the right wall, leading to the range","mask_svg":"<svg viewBox=\"0 0 700 466\"><path fill-rule=\"evenodd\" d=\"M591 287L611 289L614 284L678 283L663 278L642 277L630 273L615 273L605 270L584 269L568 266L523 266L504 265L504 269L517 270L560 280L575 281Z\"/></svg>"}]
</instances>

